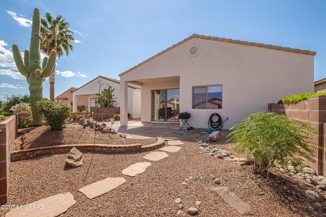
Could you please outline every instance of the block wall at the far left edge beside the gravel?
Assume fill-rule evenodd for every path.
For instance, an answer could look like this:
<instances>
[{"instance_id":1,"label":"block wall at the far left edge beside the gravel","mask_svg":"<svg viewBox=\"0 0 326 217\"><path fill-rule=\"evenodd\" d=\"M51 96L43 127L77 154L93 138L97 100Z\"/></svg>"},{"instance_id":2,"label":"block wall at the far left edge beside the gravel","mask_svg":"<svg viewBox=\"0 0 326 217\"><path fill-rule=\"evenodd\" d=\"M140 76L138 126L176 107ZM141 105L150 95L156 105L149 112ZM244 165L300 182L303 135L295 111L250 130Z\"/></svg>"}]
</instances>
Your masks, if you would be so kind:
<instances>
[{"instance_id":1,"label":"block wall at the far left edge beside the gravel","mask_svg":"<svg viewBox=\"0 0 326 217\"><path fill-rule=\"evenodd\" d=\"M0 122L0 203L7 203L9 192L10 153L16 135L16 115Z\"/></svg>"}]
</instances>

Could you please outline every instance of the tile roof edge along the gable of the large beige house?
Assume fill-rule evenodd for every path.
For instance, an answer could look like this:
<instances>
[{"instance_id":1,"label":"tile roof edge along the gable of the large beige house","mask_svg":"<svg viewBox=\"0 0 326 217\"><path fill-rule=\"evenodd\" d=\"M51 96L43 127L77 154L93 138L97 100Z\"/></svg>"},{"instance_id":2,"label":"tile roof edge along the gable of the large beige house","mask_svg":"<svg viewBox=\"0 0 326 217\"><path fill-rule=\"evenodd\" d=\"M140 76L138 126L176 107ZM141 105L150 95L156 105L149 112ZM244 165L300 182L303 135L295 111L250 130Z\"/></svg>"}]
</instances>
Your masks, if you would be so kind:
<instances>
[{"instance_id":1,"label":"tile roof edge along the gable of the large beige house","mask_svg":"<svg viewBox=\"0 0 326 217\"><path fill-rule=\"evenodd\" d=\"M280 50L280 51L286 51L286 52L292 52L292 53L300 53L300 54L306 54L306 55L316 55L316 51L310 51L310 50L301 50L298 48L290 48L290 47L281 47L281 46L276 46L276 45L271 45L271 44L263 44L263 43L256 43L256 42L247 42L247 41L240 41L240 40L234 40L234 39L226 39L226 38L219 38L219 37L212 37L212 36L204 36L204 35L198 35L198 34L193 34L189 36L188 38L185 38L184 40L178 42L177 44L172 45L171 47L162 50L161 52L157 53L156 55L146 59L142 63L138 64L137 66L134 66L127 71L121 73L119 75L122 76L124 74L127 74L128 72L134 70L135 68L138 68L148 61L156 58L157 56L185 43L186 41L189 41L191 39L205 39L205 40L212 40L212 41L219 41L219 42L226 42L226 43L232 43L232 44L240 44L240 45L246 45L246 46L253 46L253 47L262 47L262 48L267 48L267 49L272 49L272 50Z\"/></svg>"}]
</instances>

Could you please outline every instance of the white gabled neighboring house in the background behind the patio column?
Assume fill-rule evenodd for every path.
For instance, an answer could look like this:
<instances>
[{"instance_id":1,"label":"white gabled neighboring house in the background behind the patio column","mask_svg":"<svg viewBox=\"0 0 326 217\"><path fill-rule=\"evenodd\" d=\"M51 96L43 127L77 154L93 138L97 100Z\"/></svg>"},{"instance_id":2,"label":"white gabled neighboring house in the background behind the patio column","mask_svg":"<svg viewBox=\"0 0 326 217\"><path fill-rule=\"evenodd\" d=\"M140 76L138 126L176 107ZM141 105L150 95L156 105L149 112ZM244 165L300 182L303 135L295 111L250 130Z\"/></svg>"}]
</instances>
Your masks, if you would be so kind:
<instances>
[{"instance_id":1,"label":"white gabled neighboring house in the background behind the patio column","mask_svg":"<svg viewBox=\"0 0 326 217\"><path fill-rule=\"evenodd\" d=\"M98 96L96 94L100 94L101 91L108 86L111 86L115 89L113 91L115 100L113 107L120 107L120 81L112 78L98 76L97 78L72 92L73 111L77 110L77 105L80 105L79 100L82 97L87 99L84 107L88 108L89 111L91 111L91 107L97 106L95 101L98 99ZM128 105L130 105L127 113L129 113L133 118L139 118L141 116L141 87L138 85L127 85L127 89Z\"/></svg>"}]
</instances>

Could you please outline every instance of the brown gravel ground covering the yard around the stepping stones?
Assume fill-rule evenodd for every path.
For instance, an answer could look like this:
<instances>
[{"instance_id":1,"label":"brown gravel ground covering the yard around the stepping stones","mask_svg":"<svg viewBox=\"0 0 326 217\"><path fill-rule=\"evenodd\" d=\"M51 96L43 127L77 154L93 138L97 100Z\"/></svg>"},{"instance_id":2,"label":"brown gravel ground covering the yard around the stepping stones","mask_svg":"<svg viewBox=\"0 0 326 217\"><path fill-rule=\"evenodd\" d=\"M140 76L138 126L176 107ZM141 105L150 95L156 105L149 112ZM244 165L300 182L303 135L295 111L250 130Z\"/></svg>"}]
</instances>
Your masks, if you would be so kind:
<instances>
[{"instance_id":1,"label":"brown gravel ground covering the yard around the stepping stones","mask_svg":"<svg viewBox=\"0 0 326 217\"><path fill-rule=\"evenodd\" d=\"M24 138L21 147L52 145L51 140L57 139L53 136L55 133L42 128L46 127L34 129L16 138L17 147L22 143L21 138ZM79 128L68 125L63 132L59 132L61 141L66 143L72 138L76 140L76 137L80 137L78 132ZM94 142L94 130L86 129L84 133L83 136L86 137L79 139L79 143ZM233 152L232 144L225 141L227 134L228 132L222 132L222 140L217 144L220 148ZM99 136L109 138L107 134ZM135 141L111 136L113 138L110 139L110 144ZM269 179L259 178L252 173L251 166L241 166L211 157L203 153L198 143L194 142L194 138L202 139L207 135L177 137L184 142L184 145L179 145L182 148L178 152L168 153L168 158L151 162L152 165L144 173L135 177L123 175L122 170L134 163L149 162L143 158L149 152L95 153L92 163L93 153L85 152L83 166L68 170L64 169L67 153L12 162L7 204L23 205L70 192L76 204L60 216L189 216L189 207L199 209L197 216L242 216L217 193L211 192L214 187L228 187L252 206L252 216L309 216L302 205L311 207L313 204L304 196L305 191L313 189L312 187L273 174ZM43 143L35 142L41 140ZM144 139L142 142L150 143L153 140L156 141ZM55 144L59 143L55 141ZM107 177L124 177L126 182L94 199L88 199L78 192L78 189ZM213 183L215 178L219 178L221 184ZM181 198L182 209L174 203L176 198ZM201 206L196 206L198 200L201 201ZM0 210L1 216L5 213L5 210Z\"/></svg>"}]
</instances>

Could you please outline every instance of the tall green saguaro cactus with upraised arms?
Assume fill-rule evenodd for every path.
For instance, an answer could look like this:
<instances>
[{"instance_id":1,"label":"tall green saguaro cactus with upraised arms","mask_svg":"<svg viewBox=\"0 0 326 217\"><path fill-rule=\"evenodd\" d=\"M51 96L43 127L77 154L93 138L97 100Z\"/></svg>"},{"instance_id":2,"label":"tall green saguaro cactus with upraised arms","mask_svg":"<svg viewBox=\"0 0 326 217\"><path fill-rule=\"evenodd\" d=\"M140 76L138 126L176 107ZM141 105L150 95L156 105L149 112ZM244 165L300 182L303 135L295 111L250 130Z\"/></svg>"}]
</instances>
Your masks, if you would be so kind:
<instances>
[{"instance_id":1,"label":"tall green saguaro cactus with upraised arms","mask_svg":"<svg viewBox=\"0 0 326 217\"><path fill-rule=\"evenodd\" d=\"M12 51L15 63L20 74L26 77L30 87L30 101L34 126L42 125L42 115L38 112L35 103L43 99L43 81L51 75L56 65L57 52L51 51L49 57L44 57L41 68L41 17L38 8L34 9L32 35L30 42L30 50L25 50L24 61L22 60L18 45L12 45Z\"/></svg>"}]
</instances>

